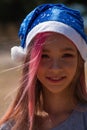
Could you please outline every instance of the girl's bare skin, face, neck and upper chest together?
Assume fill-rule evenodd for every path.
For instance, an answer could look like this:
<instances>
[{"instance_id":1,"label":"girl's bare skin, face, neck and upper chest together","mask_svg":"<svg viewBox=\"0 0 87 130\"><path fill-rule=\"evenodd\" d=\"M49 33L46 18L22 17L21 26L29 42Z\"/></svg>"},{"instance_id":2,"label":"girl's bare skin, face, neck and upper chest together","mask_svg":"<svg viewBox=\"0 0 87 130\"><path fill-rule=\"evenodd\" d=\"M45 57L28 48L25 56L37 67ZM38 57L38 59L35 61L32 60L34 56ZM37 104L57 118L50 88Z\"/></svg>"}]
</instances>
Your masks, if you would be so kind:
<instances>
[{"instance_id":1,"label":"girl's bare skin, face, neck and upper chest together","mask_svg":"<svg viewBox=\"0 0 87 130\"><path fill-rule=\"evenodd\" d=\"M45 120L43 129L53 128L63 122L75 107L71 82L76 74L77 63L77 49L68 38L53 33L46 39L37 72L43 87L44 110L50 117L50 126Z\"/></svg>"}]
</instances>

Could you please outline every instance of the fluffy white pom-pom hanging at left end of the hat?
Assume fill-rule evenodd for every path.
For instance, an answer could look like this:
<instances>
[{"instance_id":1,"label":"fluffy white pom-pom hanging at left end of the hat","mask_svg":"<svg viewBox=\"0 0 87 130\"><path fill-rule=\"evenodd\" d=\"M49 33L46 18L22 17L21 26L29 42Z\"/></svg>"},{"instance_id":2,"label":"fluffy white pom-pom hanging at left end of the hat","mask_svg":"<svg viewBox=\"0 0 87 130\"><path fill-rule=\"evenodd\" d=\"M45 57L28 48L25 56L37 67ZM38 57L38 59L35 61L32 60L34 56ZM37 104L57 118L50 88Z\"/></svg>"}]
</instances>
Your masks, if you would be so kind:
<instances>
[{"instance_id":1,"label":"fluffy white pom-pom hanging at left end of the hat","mask_svg":"<svg viewBox=\"0 0 87 130\"><path fill-rule=\"evenodd\" d=\"M25 58L26 52L21 46L14 46L11 48L11 58L14 61L22 62Z\"/></svg>"}]
</instances>

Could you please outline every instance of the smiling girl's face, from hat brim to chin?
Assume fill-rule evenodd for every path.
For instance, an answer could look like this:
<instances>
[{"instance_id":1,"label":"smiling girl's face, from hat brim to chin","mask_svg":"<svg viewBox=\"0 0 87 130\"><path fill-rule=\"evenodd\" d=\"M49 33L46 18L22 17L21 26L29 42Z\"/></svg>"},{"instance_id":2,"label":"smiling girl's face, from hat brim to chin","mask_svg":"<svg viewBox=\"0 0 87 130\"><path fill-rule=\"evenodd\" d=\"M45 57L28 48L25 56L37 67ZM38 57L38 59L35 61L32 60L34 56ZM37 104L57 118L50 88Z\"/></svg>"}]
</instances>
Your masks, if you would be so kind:
<instances>
[{"instance_id":1,"label":"smiling girl's face, from hat brim to chin","mask_svg":"<svg viewBox=\"0 0 87 130\"><path fill-rule=\"evenodd\" d=\"M52 33L43 45L37 72L43 89L52 93L67 90L76 74L77 62L75 45L65 36Z\"/></svg>"}]
</instances>

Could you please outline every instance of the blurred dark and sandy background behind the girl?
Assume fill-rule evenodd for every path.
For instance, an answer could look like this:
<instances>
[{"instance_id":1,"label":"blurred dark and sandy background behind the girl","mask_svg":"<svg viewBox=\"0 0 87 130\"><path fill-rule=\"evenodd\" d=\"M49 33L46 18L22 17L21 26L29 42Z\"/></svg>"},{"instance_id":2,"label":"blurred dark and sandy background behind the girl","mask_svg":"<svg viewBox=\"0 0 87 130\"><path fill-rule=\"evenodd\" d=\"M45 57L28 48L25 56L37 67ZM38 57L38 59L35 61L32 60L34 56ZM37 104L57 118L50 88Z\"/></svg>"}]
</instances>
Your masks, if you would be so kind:
<instances>
[{"instance_id":1,"label":"blurred dark and sandy background behind the girl","mask_svg":"<svg viewBox=\"0 0 87 130\"><path fill-rule=\"evenodd\" d=\"M80 10L87 33L86 0L0 0L0 117L7 110L19 86L21 68L10 57L10 49L19 45L18 29L24 17L43 3L64 3Z\"/></svg>"}]
</instances>

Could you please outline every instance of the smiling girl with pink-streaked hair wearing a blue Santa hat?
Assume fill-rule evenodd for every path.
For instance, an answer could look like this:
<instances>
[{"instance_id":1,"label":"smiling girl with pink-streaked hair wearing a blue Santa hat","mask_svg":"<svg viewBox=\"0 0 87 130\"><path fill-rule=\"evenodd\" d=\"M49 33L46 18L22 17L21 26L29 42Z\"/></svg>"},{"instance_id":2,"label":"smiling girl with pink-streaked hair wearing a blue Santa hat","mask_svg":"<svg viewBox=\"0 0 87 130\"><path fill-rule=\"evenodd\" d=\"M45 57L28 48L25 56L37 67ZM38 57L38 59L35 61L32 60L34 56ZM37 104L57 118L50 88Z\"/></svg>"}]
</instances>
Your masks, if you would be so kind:
<instances>
[{"instance_id":1,"label":"smiling girl with pink-streaked hair wearing a blue Santa hat","mask_svg":"<svg viewBox=\"0 0 87 130\"><path fill-rule=\"evenodd\" d=\"M38 6L19 37L11 55L24 61L21 85L0 130L87 130L87 38L79 11Z\"/></svg>"}]
</instances>

